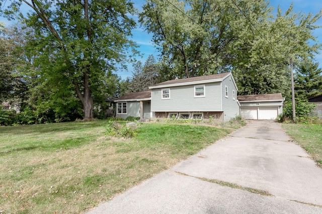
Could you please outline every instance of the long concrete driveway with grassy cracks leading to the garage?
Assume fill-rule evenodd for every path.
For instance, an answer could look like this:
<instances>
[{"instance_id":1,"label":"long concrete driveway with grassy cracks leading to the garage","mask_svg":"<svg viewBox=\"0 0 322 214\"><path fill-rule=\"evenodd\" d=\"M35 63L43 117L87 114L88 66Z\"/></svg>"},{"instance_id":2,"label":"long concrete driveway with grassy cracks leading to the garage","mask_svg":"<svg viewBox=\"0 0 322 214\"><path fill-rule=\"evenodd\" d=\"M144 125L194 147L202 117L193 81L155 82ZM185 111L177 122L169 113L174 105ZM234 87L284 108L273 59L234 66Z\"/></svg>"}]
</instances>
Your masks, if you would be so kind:
<instances>
[{"instance_id":1,"label":"long concrete driveway with grassy cracks leading to the garage","mask_svg":"<svg viewBox=\"0 0 322 214\"><path fill-rule=\"evenodd\" d=\"M322 169L289 140L276 122L249 121L88 213L322 213Z\"/></svg>"}]
</instances>

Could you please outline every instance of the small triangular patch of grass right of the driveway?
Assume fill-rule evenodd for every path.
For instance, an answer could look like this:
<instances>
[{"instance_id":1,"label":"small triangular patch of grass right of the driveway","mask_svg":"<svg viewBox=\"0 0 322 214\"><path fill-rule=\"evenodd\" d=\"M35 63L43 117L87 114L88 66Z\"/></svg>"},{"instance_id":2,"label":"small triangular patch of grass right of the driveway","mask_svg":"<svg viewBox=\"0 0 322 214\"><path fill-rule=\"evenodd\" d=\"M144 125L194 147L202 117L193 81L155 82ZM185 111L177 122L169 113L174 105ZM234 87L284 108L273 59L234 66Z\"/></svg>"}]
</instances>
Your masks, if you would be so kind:
<instances>
[{"instance_id":1,"label":"small triangular patch of grass right of the driveway","mask_svg":"<svg viewBox=\"0 0 322 214\"><path fill-rule=\"evenodd\" d=\"M283 124L282 128L322 166L322 126Z\"/></svg>"}]
</instances>

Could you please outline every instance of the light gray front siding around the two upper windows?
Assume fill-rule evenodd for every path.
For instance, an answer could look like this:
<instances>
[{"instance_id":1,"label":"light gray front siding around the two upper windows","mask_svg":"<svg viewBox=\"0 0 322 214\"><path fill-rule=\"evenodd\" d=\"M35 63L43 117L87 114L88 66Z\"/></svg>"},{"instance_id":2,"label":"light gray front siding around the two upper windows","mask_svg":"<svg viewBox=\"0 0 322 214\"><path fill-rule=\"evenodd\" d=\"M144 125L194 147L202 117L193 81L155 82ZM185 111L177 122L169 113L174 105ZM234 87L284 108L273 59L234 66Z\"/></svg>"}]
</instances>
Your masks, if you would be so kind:
<instances>
[{"instance_id":1,"label":"light gray front siding around the two upper windows","mask_svg":"<svg viewBox=\"0 0 322 214\"><path fill-rule=\"evenodd\" d=\"M194 97L194 86L205 85L205 97ZM175 86L170 99L162 99L162 88L151 89L151 112L218 112L221 111L220 82Z\"/></svg>"}]
</instances>

